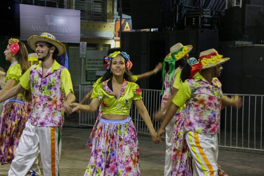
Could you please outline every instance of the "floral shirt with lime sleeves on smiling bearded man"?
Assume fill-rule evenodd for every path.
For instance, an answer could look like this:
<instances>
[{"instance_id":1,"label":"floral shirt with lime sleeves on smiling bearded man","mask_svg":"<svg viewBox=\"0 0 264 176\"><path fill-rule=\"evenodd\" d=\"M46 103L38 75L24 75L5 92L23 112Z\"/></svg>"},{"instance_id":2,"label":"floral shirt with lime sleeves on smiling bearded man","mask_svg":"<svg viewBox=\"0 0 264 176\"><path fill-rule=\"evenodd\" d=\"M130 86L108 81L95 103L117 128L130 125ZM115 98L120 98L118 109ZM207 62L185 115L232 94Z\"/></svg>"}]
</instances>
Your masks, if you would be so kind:
<instances>
[{"instance_id":1,"label":"floral shirt with lime sleeves on smiling bearded man","mask_svg":"<svg viewBox=\"0 0 264 176\"><path fill-rule=\"evenodd\" d=\"M21 86L31 88L32 109L28 121L37 126L62 126L62 103L73 92L69 71L55 60L45 75L41 64L33 65L20 78Z\"/></svg>"}]
</instances>

